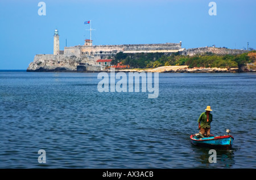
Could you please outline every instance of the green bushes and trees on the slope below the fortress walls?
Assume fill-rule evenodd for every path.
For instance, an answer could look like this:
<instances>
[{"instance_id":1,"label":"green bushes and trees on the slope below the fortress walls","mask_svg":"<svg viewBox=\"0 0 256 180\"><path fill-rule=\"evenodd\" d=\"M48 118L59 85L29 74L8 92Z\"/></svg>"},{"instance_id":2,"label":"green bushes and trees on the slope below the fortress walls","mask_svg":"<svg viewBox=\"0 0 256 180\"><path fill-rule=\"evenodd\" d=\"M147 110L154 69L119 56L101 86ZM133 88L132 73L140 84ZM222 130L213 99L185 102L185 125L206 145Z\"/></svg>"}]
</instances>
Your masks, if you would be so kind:
<instances>
[{"instance_id":1,"label":"green bushes and trees on the slope below the fortress walls","mask_svg":"<svg viewBox=\"0 0 256 180\"><path fill-rule=\"evenodd\" d=\"M122 62L131 68L157 68L159 66L188 65L189 68L241 68L255 61L255 52L251 51L241 55L216 55L205 53L203 55L183 56L179 53L165 55L164 53L122 53L119 52L112 61L114 65ZM250 55L253 56L250 56Z\"/></svg>"}]
</instances>

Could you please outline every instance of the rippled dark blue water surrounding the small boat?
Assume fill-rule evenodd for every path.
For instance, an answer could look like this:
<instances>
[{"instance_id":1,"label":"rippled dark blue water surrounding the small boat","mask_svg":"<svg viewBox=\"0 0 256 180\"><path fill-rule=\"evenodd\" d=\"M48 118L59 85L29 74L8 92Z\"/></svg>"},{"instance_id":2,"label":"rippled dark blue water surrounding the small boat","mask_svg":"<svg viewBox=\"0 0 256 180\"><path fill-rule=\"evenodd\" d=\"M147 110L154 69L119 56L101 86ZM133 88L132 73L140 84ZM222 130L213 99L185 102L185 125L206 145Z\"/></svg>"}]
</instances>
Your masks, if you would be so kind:
<instances>
[{"instance_id":1,"label":"rippled dark blue water surrounding the small boat","mask_svg":"<svg viewBox=\"0 0 256 180\"><path fill-rule=\"evenodd\" d=\"M256 168L256 73L159 74L155 99L100 93L97 75L0 72L0 168ZM189 139L206 106L234 136L216 164Z\"/></svg>"}]
</instances>

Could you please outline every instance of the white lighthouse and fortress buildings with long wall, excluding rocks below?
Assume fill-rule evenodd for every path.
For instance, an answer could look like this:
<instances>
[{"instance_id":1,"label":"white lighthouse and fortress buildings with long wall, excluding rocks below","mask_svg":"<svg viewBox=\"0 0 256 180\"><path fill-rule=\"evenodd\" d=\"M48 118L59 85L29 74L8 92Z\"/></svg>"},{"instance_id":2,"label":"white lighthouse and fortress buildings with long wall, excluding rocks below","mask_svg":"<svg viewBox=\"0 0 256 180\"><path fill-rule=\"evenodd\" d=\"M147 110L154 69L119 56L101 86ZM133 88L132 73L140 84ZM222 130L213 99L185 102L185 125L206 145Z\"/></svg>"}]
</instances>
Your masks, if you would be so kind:
<instances>
[{"instance_id":1,"label":"white lighthouse and fortress buildings with long wall, excluding rocks below","mask_svg":"<svg viewBox=\"0 0 256 180\"><path fill-rule=\"evenodd\" d=\"M176 53L183 52L180 43L165 43L165 44L123 44L123 45L93 45L92 40L85 39L84 45L76 45L74 47L64 47L64 51L59 48L59 31L55 30L53 55L66 56L89 56L94 62L113 58L117 53Z\"/></svg>"}]
</instances>

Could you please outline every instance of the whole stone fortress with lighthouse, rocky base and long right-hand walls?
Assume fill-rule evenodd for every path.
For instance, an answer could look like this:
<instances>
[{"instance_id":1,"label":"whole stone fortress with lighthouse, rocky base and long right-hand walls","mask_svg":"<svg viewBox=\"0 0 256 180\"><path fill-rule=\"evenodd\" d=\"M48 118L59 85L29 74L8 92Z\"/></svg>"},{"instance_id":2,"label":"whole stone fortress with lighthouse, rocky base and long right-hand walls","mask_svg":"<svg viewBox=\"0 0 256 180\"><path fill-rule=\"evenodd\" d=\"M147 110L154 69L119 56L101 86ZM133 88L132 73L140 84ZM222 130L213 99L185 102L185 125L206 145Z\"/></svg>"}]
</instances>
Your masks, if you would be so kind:
<instances>
[{"instance_id":1,"label":"whole stone fortress with lighthouse, rocky base and long right-hand walls","mask_svg":"<svg viewBox=\"0 0 256 180\"><path fill-rule=\"evenodd\" d=\"M106 66L98 65L97 60L114 58L119 53L180 53L193 56L198 53L213 52L216 54L240 54L245 51L226 48L181 48L180 43L165 44L124 44L124 45L93 45L92 40L86 39L84 45L64 47L60 51L59 31L53 35L53 55L35 55L27 72L100 72Z\"/></svg>"}]
</instances>

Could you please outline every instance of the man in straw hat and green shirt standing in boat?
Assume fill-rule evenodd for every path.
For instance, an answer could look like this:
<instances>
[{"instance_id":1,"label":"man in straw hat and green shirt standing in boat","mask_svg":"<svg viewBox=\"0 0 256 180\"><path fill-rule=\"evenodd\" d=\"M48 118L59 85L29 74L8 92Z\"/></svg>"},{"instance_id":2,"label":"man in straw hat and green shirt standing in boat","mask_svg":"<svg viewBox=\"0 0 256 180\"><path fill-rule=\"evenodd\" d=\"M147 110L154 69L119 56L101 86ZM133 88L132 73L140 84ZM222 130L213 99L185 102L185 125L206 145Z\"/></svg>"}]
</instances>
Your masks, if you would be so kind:
<instances>
[{"instance_id":1,"label":"man in straw hat and green shirt standing in boat","mask_svg":"<svg viewBox=\"0 0 256 180\"><path fill-rule=\"evenodd\" d=\"M210 106L207 106L205 109L206 112L203 112L198 119L198 128L200 129L201 135L209 137L210 136L210 122L212 122L212 114L210 114Z\"/></svg>"}]
</instances>

